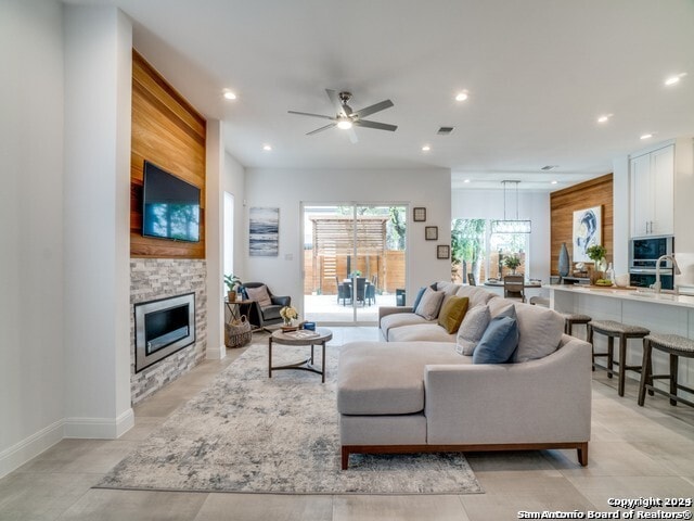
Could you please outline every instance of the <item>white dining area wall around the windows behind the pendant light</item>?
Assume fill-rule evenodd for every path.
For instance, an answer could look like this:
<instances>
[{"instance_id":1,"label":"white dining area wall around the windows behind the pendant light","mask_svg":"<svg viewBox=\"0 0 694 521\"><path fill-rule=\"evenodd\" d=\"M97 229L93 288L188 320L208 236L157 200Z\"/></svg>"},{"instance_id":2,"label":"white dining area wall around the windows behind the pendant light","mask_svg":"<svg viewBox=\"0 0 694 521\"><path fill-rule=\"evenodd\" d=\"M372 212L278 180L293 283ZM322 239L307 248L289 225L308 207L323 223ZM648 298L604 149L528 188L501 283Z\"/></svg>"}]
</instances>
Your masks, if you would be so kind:
<instances>
[{"instance_id":1,"label":"white dining area wall around the windows behind the pendant light","mask_svg":"<svg viewBox=\"0 0 694 521\"><path fill-rule=\"evenodd\" d=\"M453 190L451 218L503 219L503 190ZM516 216L515 189L506 190L506 218ZM532 221L530 233L530 266L527 278L550 282L550 194L518 190L518 218Z\"/></svg>"}]
</instances>

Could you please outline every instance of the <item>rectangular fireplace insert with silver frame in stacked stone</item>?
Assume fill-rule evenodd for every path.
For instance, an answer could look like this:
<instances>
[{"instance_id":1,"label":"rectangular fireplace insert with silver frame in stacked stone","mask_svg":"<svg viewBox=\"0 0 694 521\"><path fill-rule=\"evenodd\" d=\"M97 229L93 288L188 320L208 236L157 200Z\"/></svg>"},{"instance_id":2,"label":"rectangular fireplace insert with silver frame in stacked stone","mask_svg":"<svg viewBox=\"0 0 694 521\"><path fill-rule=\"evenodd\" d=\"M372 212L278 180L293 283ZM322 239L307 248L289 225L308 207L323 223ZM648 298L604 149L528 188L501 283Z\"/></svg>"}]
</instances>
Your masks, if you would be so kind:
<instances>
[{"instance_id":1,"label":"rectangular fireplace insert with silver frame in stacked stone","mask_svg":"<svg viewBox=\"0 0 694 521\"><path fill-rule=\"evenodd\" d=\"M195 342L195 293L134 305L134 372Z\"/></svg>"}]
</instances>

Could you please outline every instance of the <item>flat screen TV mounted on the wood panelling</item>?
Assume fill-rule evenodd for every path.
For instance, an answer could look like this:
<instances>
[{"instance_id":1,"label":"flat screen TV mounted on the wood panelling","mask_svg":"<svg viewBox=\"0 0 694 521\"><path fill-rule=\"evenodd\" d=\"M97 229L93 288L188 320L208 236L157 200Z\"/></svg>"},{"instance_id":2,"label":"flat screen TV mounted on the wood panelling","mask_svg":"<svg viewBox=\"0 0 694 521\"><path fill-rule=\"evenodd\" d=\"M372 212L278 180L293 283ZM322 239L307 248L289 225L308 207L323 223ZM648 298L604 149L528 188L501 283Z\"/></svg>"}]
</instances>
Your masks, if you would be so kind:
<instances>
[{"instance_id":1,"label":"flat screen TV mounted on the wood panelling","mask_svg":"<svg viewBox=\"0 0 694 521\"><path fill-rule=\"evenodd\" d=\"M200 242L200 188L144 162L142 234Z\"/></svg>"}]
</instances>

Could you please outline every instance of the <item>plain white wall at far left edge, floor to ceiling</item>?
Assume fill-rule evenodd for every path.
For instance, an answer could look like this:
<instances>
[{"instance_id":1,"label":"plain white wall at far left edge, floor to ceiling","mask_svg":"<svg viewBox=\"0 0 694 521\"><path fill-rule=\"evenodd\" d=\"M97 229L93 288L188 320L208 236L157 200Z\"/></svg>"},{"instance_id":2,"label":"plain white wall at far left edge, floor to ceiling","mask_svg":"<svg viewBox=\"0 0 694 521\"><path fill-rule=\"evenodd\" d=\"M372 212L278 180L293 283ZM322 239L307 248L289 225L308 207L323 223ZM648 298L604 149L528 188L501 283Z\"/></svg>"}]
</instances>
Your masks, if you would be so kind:
<instances>
[{"instance_id":1,"label":"plain white wall at far left edge, floor to ceiling","mask_svg":"<svg viewBox=\"0 0 694 521\"><path fill-rule=\"evenodd\" d=\"M63 31L0 4L0 476L62 437Z\"/></svg>"}]
</instances>

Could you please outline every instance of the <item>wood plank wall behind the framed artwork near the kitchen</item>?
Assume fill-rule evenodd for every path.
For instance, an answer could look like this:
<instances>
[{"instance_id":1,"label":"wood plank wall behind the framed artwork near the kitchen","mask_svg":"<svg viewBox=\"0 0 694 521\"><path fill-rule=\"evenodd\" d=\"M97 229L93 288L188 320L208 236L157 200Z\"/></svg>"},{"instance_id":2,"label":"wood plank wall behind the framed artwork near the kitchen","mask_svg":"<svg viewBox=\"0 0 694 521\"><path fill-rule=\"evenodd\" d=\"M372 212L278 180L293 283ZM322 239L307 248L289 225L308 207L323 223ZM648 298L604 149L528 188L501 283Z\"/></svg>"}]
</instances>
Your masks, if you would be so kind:
<instances>
[{"instance_id":1,"label":"wood plank wall behind the framed artwork near the kitchen","mask_svg":"<svg viewBox=\"0 0 694 521\"><path fill-rule=\"evenodd\" d=\"M607 249L607 262L612 262L614 253L613 175L608 174L550 194L552 275L560 272L560 249L563 242L566 242L569 256L573 256L574 212L593 206L602 207L602 245Z\"/></svg>"}]
</instances>

